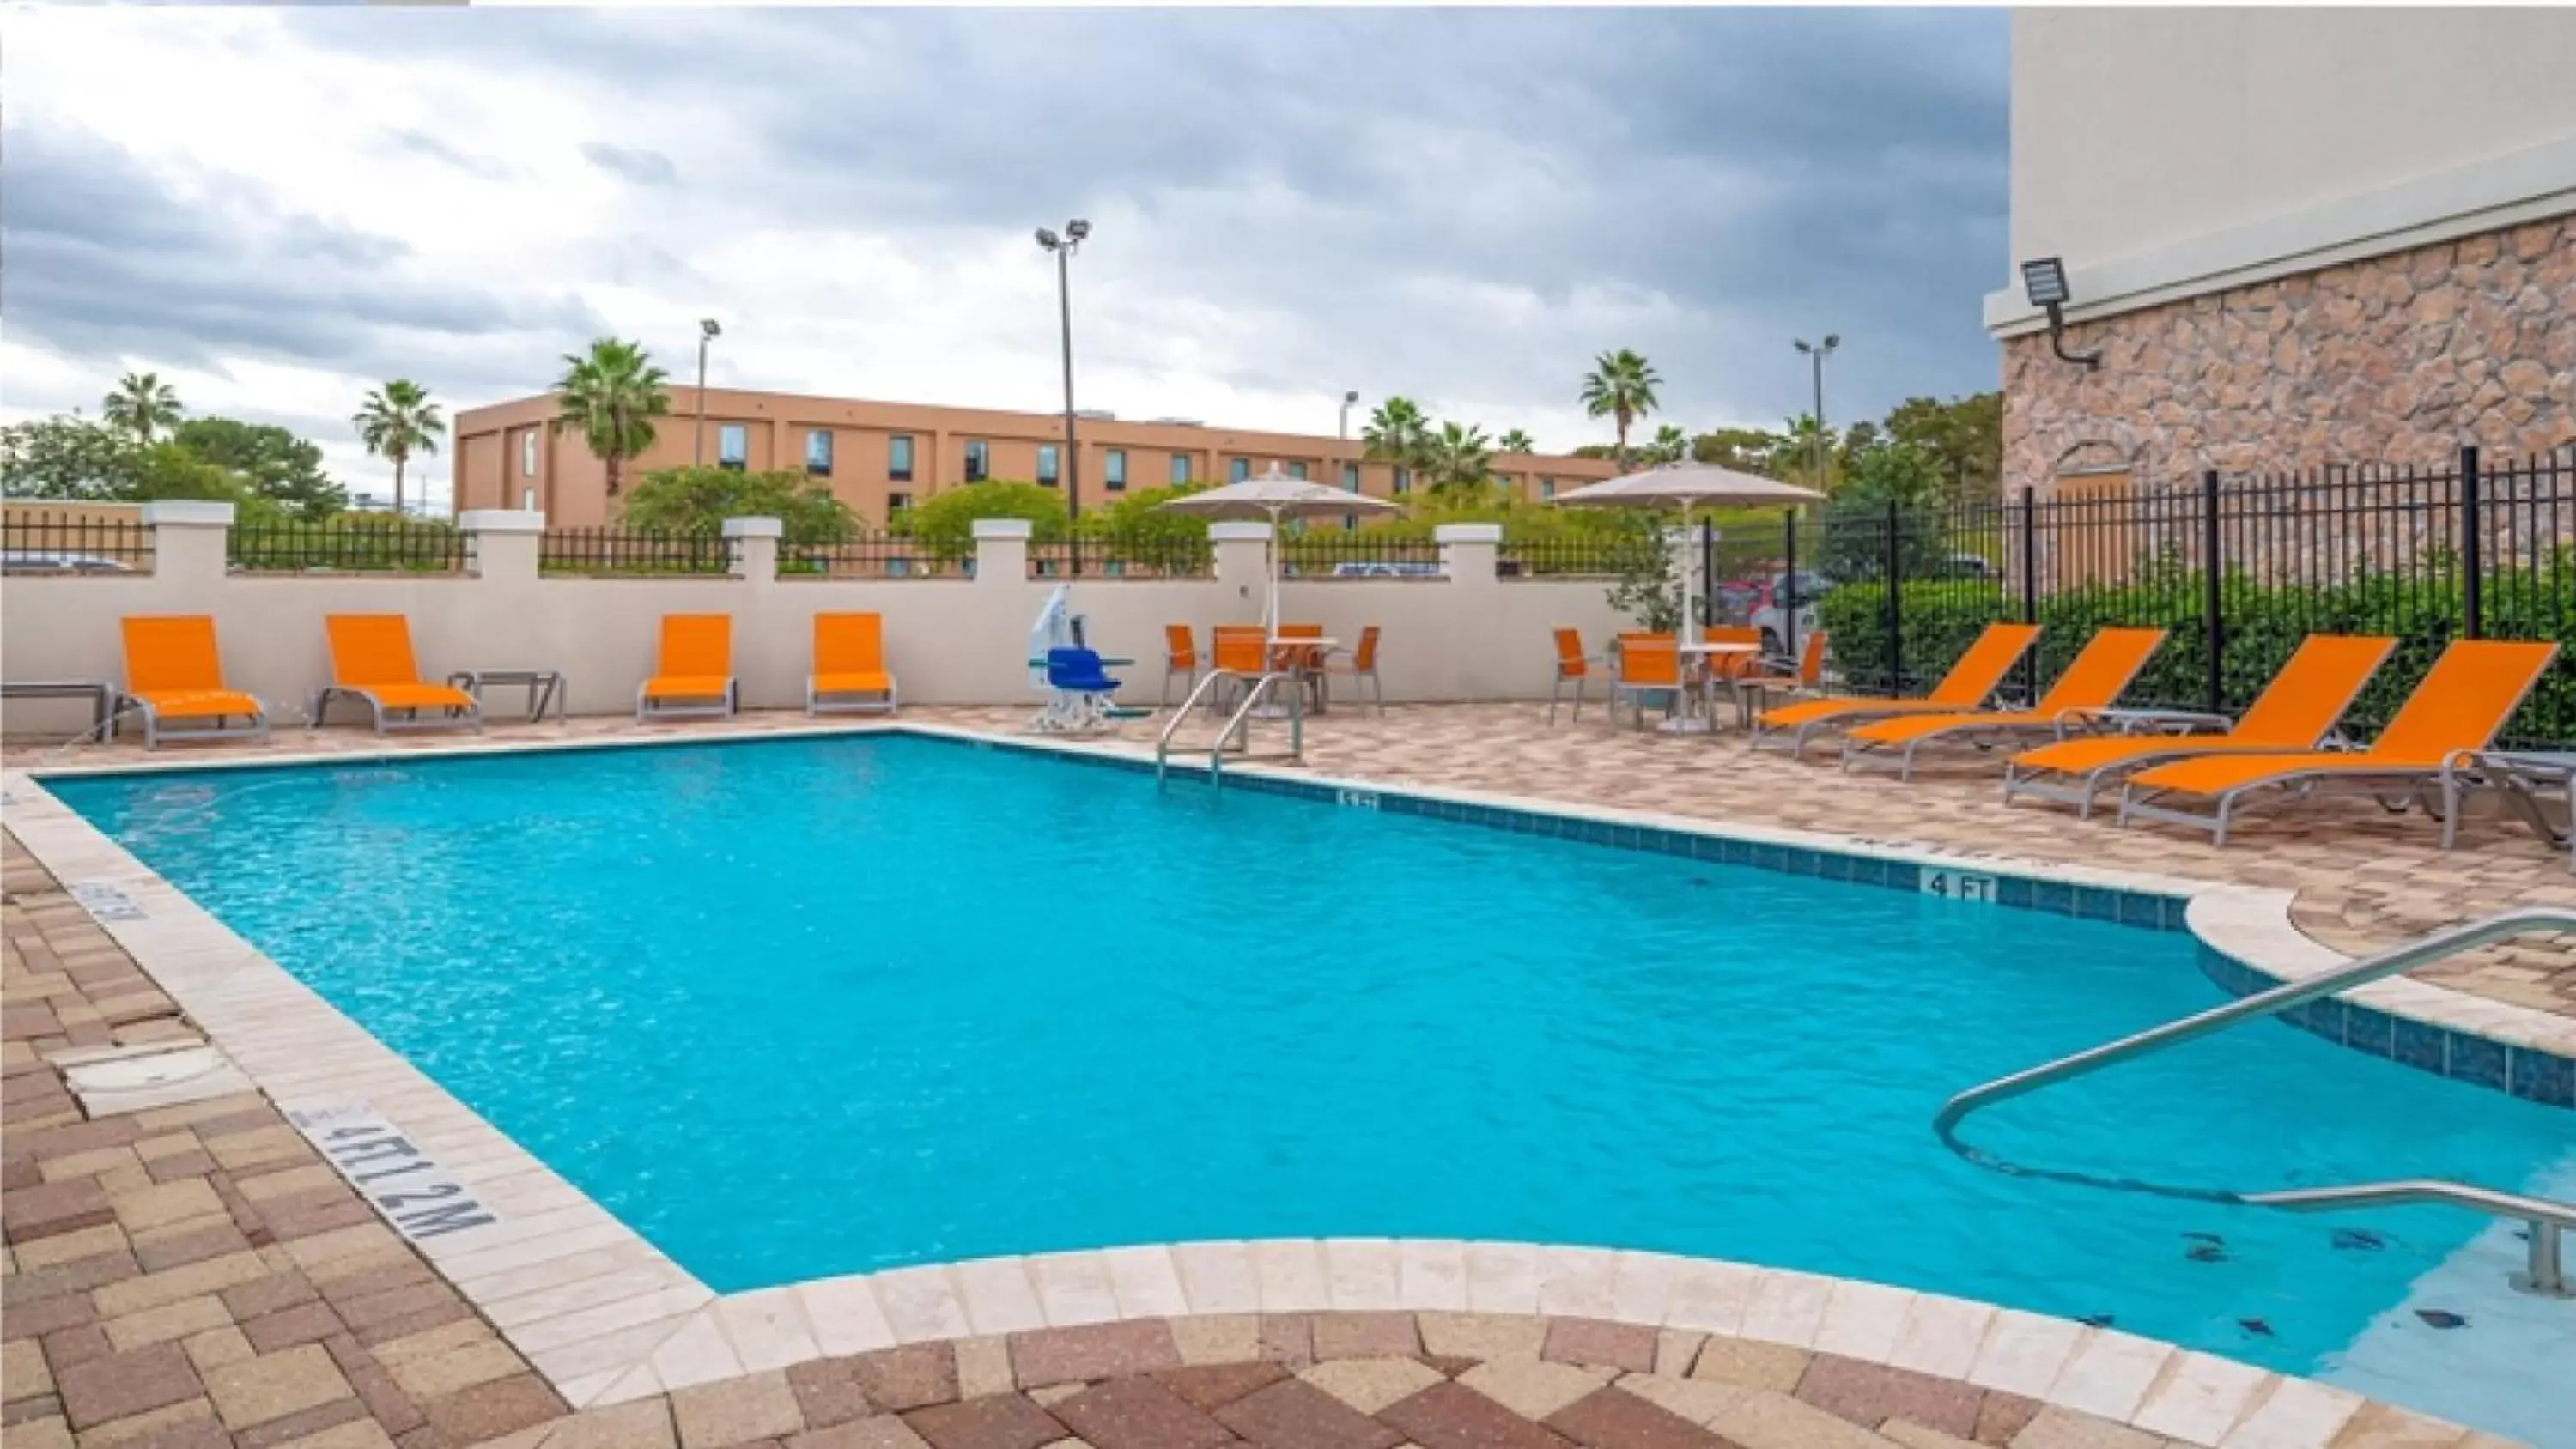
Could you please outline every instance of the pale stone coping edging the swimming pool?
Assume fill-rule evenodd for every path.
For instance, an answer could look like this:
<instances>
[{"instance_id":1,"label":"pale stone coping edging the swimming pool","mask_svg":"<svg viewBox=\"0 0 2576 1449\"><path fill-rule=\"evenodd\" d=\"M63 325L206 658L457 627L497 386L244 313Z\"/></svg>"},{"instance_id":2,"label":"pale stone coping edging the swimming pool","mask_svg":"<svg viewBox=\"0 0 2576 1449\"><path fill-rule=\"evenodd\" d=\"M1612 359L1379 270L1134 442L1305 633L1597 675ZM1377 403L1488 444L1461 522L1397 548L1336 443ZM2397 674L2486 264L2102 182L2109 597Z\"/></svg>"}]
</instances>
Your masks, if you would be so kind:
<instances>
[{"instance_id":1,"label":"pale stone coping edging the swimming pool","mask_svg":"<svg viewBox=\"0 0 2576 1449\"><path fill-rule=\"evenodd\" d=\"M914 734L1151 767L1151 757L1103 749L1100 741L1077 744L871 721L757 734L690 731L598 741L461 741L461 749L332 752L229 762L173 759L152 762L147 770L368 764L440 754L866 734ZM13 767L0 775L0 785L10 795L8 824L64 888L113 885L124 893L131 911L100 914L100 929L283 1112L368 1107L392 1122L407 1143L435 1158L440 1168L471 1184L471 1192L500 1215L497 1223L410 1241L574 1408L613 1405L747 1372L899 1343L1126 1318L1314 1310L1553 1313L1728 1333L1945 1374L2195 1444L2223 1444L2228 1434L2244 1428L2239 1416L2249 1416L2246 1423L2251 1423L2257 1413L2275 1416L2272 1405L2290 1405L2277 1410L2290 1423L2267 1423L2262 1441L2321 1446L2365 1403L2360 1395L2295 1374L2275 1374L2218 1354L2017 1307L1795 1269L1582 1246L1399 1238L1118 1246L925 1264L716 1295L44 788L46 777L131 772L139 770L134 764ZM2179 898L2187 901L2184 924L2210 950L2228 960L2259 960L2249 970L2277 970L2287 978L2344 960L2298 932L2287 916L2287 891L1602 806L1414 785L1388 788L1368 780L1270 770L1257 762L1236 764L1231 780L1360 808L1383 808L1386 798L1394 795L1453 811L1502 811L1520 821L1569 821L1613 834L1638 831L1636 839L1610 839L1610 844L1633 849L1646 849L1643 831L1656 831L1656 836L1736 842L1747 849L1868 854L1924 870L1978 867L2022 880L2050 878L2076 888ZM1365 800L1350 800L1340 793L1365 795ZM1440 816L1440 811L1417 813L1473 818ZM1497 821L1481 818L1476 824ZM1669 839L1656 844L1669 844ZM2174 929L2164 919L2159 927ZM2442 999L2465 996L2411 981L2380 986L2409 986L2429 993L2421 1001L2414 993L2401 999L2383 993L2385 1009L2398 1014L2460 1009L2458 1001ZM2548 1017L2478 999L2465 999L2465 1004L2494 1009L2473 1011L2473 1017L2496 1017L2499 1027L2514 1024L2501 1019L2504 1011ZM2455 1029L2473 1032L2476 1027ZM1984 1328L1960 1361L1958 1333L1968 1315L1976 1315Z\"/></svg>"}]
</instances>

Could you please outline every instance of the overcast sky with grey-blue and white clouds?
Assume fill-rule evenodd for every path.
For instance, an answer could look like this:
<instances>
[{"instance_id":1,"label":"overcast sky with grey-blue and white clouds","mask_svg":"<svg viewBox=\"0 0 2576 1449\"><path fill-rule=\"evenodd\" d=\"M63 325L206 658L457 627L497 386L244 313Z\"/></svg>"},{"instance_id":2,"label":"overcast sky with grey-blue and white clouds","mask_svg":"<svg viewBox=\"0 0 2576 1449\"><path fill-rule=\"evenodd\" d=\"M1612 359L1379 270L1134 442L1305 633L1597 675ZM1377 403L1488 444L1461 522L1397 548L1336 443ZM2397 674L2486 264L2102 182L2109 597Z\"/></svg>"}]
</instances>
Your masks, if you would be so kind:
<instances>
[{"instance_id":1,"label":"overcast sky with grey-blue and white clouds","mask_svg":"<svg viewBox=\"0 0 2576 1449\"><path fill-rule=\"evenodd\" d=\"M348 414L636 337L719 386L1605 443L1991 389L1989 10L10 10L0 420L157 368L384 492ZM430 463L446 497L446 461Z\"/></svg>"}]
</instances>

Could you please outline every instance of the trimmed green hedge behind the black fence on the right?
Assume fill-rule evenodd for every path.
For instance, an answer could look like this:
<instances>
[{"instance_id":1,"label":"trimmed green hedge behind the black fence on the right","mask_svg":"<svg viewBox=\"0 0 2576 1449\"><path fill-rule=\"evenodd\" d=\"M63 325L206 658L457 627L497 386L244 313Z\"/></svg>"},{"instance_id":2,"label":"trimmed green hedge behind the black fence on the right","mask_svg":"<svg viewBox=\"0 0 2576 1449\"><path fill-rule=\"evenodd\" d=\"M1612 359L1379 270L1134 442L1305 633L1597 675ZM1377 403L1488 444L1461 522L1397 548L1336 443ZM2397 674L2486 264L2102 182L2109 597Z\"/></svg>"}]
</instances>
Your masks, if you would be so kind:
<instances>
[{"instance_id":1,"label":"trimmed green hedge behind the black fence on the right","mask_svg":"<svg viewBox=\"0 0 2576 1449\"><path fill-rule=\"evenodd\" d=\"M2483 615L2488 638L2555 638L2561 646L2540 687L2504 728L2504 741L2558 746L2576 741L2576 571L2524 569L2496 571L2486 582ZM1901 690L1927 690L1996 620L2020 618L2020 602L1999 587L1960 587L1922 582L1901 587L1904 649ZM1816 605L1819 620L1834 636L1834 661L1855 687L1883 690L1888 682L1886 589L1850 584ZM2133 705L2208 708L2208 610L2202 582L2192 571L2143 584L2069 589L2040 600L2038 685L2107 625L2161 625L2164 649L2148 659L2125 695ZM2226 649L2218 659L2223 705L2233 713L2280 672L2311 633L2393 633L2398 649L2370 679L2344 715L2347 728L2375 731L2416 687L2445 643L2458 638L2463 620L2455 579L2409 579L2367 574L2331 587L2262 587L2244 577L2221 582L2221 620Z\"/></svg>"}]
</instances>

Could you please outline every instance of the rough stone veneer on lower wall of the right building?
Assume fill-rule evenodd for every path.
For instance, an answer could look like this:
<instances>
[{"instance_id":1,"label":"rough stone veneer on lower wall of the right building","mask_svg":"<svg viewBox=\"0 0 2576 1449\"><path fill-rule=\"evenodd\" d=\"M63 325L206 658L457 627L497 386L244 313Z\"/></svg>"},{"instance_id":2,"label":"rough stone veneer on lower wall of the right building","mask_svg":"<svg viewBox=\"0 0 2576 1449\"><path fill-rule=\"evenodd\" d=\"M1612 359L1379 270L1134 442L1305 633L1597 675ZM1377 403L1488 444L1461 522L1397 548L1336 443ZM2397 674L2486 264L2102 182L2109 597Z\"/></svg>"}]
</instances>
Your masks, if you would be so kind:
<instances>
[{"instance_id":1,"label":"rough stone veneer on lower wall of the right building","mask_svg":"<svg viewBox=\"0 0 2576 1449\"><path fill-rule=\"evenodd\" d=\"M2004 340L2004 489L2576 443L2576 214Z\"/></svg>"}]
</instances>

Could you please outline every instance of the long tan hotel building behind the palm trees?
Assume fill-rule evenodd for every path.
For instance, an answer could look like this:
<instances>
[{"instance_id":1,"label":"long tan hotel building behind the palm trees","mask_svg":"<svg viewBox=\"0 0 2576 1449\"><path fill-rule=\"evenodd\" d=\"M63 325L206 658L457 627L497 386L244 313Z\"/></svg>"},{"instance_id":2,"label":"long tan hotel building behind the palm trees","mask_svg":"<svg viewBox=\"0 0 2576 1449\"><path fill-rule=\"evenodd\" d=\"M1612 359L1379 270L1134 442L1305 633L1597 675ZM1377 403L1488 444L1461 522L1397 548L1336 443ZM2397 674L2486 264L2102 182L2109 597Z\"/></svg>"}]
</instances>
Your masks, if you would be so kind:
<instances>
[{"instance_id":1,"label":"long tan hotel building behind the palm trees","mask_svg":"<svg viewBox=\"0 0 2576 1449\"><path fill-rule=\"evenodd\" d=\"M690 461L698 391L672 389L670 401L670 417L654 420L652 448L626 463L629 484ZM528 507L556 528L608 522L608 468L590 456L580 432L554 432L546 425L554 407L551 394L538 394L456 414L451 497L459 512ZM706 389L703 417L706 463L755 474L804 471L873 525L976 479L1059 484L1066 461L1064 417L1043 412ZM1077 414L1077 430L1084 507L1128 489L1244 479L1273 463L1285 474L1376 497L1412 489L1401 468L1363 461L1358 440L1244 432L1180 417L1126 422L1110 414ZM1548 499L1610 479L1618 466L1607 458L1502 453L1494 474L1512 497Z\"/></svg>"}]
</instances>

